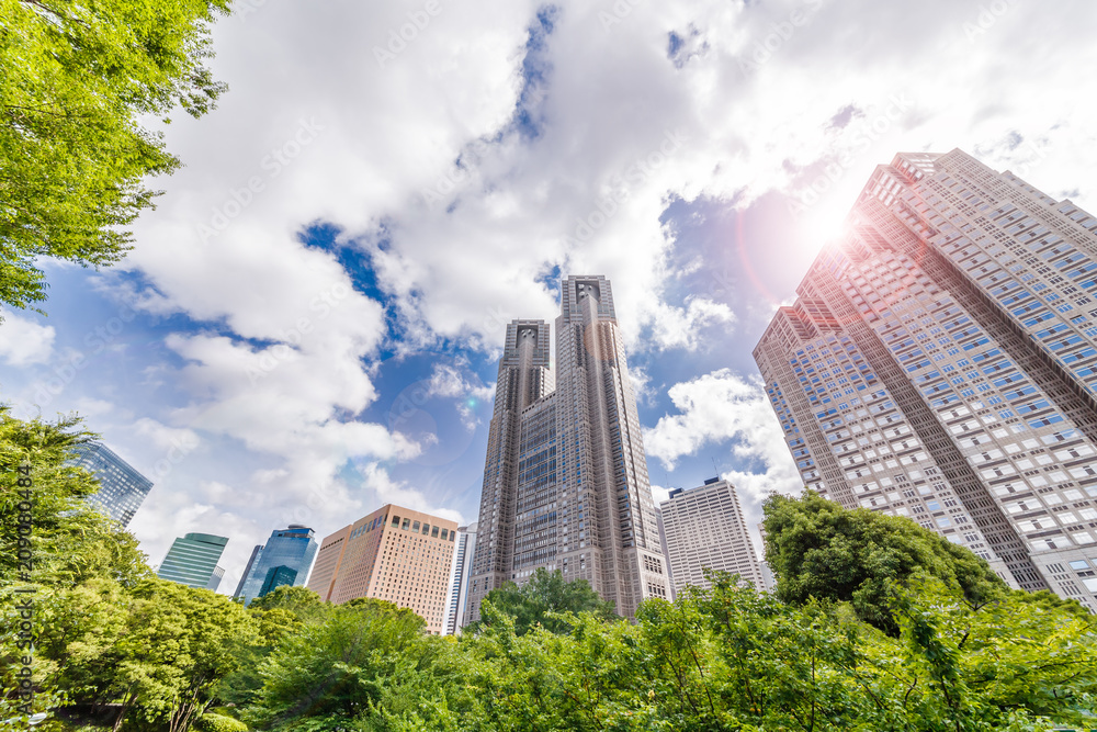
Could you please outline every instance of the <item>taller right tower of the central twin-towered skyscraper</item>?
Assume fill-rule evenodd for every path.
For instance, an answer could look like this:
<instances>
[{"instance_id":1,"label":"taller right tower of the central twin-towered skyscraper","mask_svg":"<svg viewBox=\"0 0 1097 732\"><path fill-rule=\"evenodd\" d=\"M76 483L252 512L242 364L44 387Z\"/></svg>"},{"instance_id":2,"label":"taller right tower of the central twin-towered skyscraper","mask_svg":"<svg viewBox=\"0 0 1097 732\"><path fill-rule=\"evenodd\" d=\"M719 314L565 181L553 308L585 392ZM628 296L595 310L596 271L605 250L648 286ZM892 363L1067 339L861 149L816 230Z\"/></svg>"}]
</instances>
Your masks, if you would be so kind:
<instances>
[{"instance_id":1,"label":"taller right tower of the central twin-towered skyscraper","mask_svg":"<svg viewBox=\"0 0 1097 732\"><path fill-rule=\"evenodd\" d=\"M668 596L646 458L610 283L570 277L557 320L561 564L587 578L620 615Z\"/></svg>"}]
</instances>

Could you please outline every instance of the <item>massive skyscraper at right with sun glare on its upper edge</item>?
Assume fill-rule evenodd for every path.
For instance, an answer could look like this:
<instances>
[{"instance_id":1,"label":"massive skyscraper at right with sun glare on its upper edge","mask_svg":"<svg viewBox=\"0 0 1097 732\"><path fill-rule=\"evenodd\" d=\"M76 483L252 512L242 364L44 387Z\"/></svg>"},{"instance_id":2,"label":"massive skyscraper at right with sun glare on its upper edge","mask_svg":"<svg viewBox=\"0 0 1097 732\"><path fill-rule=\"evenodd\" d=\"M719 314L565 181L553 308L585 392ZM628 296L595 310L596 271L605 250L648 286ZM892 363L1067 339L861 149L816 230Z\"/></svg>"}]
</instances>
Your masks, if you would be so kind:
<instances>
[{"instance_id":1,"label":"massive skyscraper at right with sun glare on its upper edge","mask_svg":"<svg viewBox=\"0 0 1097 732\"><path fill-rule=\"evenodd\" d=\"M1097 610L1097 218L953 150L847 225L755 349L804 483Z\"/></svg>"}]
</instances>

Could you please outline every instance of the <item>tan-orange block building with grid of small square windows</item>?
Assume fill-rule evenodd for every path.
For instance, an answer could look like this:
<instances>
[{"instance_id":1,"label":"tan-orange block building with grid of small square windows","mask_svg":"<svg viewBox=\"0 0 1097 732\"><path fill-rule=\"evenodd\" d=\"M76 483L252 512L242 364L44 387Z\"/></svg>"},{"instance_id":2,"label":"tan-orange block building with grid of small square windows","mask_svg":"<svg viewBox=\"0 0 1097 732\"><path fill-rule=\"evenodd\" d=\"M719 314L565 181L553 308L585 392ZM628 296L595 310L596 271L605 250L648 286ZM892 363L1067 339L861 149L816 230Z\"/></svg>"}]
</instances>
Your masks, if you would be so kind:
<instances>
[{"instance_id":1,"label":"tan-orange block building with grid of small square windows","mask_svg":"<svg viewBox=\"0 0 1097 732\"><path fill-rule=\"evenodd\" d=\"M308 588L336 604L375 597L415 610L444 630L457 525L387 505L320 542Z\"/></svg>"}]
</instances>

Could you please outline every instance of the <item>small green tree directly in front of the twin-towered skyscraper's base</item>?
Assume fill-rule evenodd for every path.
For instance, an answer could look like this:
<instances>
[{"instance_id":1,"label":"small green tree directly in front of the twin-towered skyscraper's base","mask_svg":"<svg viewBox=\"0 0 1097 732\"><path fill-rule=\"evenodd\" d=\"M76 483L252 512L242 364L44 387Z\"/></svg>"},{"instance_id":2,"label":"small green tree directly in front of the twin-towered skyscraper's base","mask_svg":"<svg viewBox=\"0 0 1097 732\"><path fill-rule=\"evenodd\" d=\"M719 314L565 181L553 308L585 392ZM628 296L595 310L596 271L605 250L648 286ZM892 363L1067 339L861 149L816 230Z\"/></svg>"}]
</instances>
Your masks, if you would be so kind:
<instances>
[{"instance_id":1,"label":"small green tree directly in front of the twin-towered skyscraper's base","mask_svg":"<svg viewBox=\"0 0 1097 732\"><path fill-rule=\"evenodd\" d=\"M521 587L508 582L488 593L487 599L496 610L513 619L519 635L538 626L554 633L570 631L567 619L559 613L591 612L602 620L617 617L613 604L599 597L586 579L567 582L559 570L548 572L538 567ZM467 630L476 632L485 622L480 620Z\"/></svg>"}]
</instances>

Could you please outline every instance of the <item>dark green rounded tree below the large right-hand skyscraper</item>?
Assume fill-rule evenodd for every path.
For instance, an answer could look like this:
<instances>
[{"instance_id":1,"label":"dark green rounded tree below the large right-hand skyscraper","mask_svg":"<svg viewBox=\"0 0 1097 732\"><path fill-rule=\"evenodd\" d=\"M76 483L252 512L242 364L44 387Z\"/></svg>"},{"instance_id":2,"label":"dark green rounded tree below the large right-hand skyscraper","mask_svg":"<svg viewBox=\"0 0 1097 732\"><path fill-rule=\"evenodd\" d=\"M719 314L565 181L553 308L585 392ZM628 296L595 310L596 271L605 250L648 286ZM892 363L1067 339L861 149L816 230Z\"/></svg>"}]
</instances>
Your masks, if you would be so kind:
<instances>
[{"instance_id":1,"label":"dark green rounded tree below the large right-hand skyscraper","mask_svg":"<svg viewBox=\"0 0 1097 732\"><path fill-rule=\"evenodd\" d=\"M849 603L861 620L897 635L891 587L916 573L958 587L976 605L1009 592L985 560L903 517L848 510L811 491L772 496L764 510L766 560L785 603Z\"/></svg>"}]
</instances>

